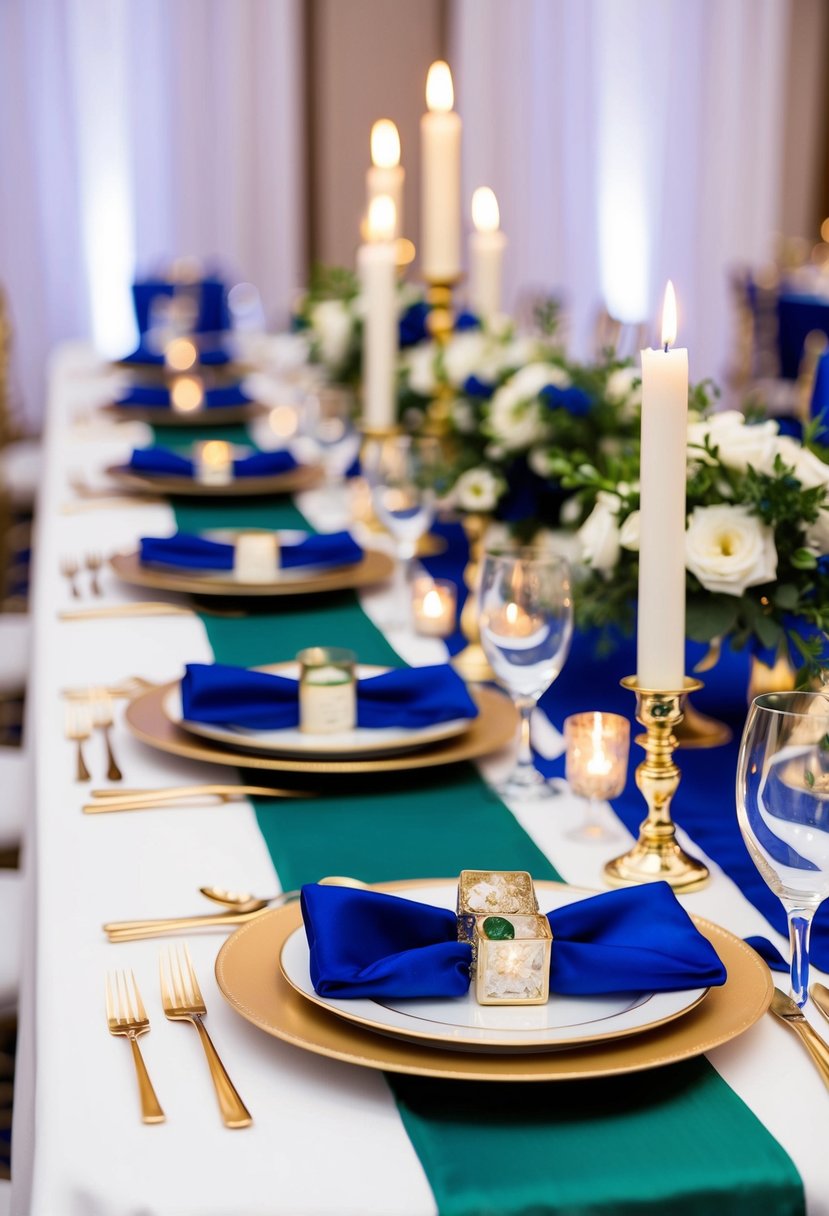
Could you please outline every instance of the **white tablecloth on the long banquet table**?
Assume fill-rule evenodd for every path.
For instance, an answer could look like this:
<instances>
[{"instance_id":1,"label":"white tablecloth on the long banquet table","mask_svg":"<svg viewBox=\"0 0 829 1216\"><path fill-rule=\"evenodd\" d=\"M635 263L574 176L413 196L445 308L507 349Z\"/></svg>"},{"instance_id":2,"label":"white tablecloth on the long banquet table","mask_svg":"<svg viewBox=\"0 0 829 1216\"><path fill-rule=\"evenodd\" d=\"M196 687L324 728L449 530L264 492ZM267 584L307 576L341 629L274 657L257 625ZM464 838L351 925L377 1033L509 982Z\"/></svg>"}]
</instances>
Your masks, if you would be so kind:
<instances>
[{"instance_id":1,"label":"white tablecloth on the long banquet table","mask_svg":"<svg viewBox=\"0 0 829 1216\"><path fill-rule=\"evenodd\" d=\"M102 933L106 921L203 911L198 888L205 883L261 894L276 891L280 884L249 804L81 814L89 787L73 779L74 744L63 734L62 691L111 685L136 674L162 682L180 674L185 662L213 659L197 615L58 619L62 609L78 607L61 576L61 557L112 553L134 547L141 535L164 535L174 528L173 510L164 502L136 499L96 508L95 500L78 499L73 492L79 472L95 484L98 471L123 461L131 446L150 439L148 428L140 423L113 423L90 412L109 395L111 372L89 348L72 344L55 354L38 505L35 665L27 706L28 737L35 754L35 814L26 854L29 950L19 1008L13 1211L34 1216L429 1216L439 1210L473 1211L435 1197L382 1073L303 1052L249 1025L226 1003L214 979L222 938L192 934L187 940L207 1002L208 1029L254 1119L246 1130L222 1127L196 1036L163 1017L157 983L159 942L111 945ZM308 491L299 496L298 506L311 524L331 528L343 522L332 519L327 491ZM119 584L112 572L103 573L102 582L105 599L100 602L147 598L140 590ZM391 595L383 587L361 592L361 607L370 619L388 620ZM153 592L151 598L162 596ZM90 607L97 602L86 598ZM439 640L417 637L405 627L387 627L385 634L410 664L446 658ZM275 655L286 657L291 655ZM123 724L123 703L117 704L113 745L129 787L238 781L233 769L207 772L196 761L163 755L140 743ZM559 736L543 715L536 716L534 730L538 751L552 755L560 748ZM100 739L88 744L88 759L92 784L103 786ZM509 754L498 754L481 767L495 779L509 761ZM562 878L577 886L602 889L602 867L631 841L609 807L600 814L614 839L602 844L571 839L583 805L566 790L554 800L512 804L508 810ZM312 801L304 814L315 815ZM344 822L342 831L348 832L348 827ZM705 857L698 844L679 834L687 848ZM741 938L762 934L785 951L784 939L732 879L706 860L711 883L684 896L684 906ZM105 974L122 967L135 972L151 1015L152 1030L142 1038L142 1047L167 1110L168 1121L160 1126L139 1121L129 1049L108 1035L105 1023ZM819 973L816 978L825 979ZM813 1008L808 1018L818 1031L829 1030ZM709 1062L765 1128L769 1142L776 1142L780 1156L790 1160L793 1177L799 1175L802 1181L810 1216L829 1214L824 1136L829 1093L795 1036L767 1015L712 1051ZM659 1071L647 1077L632 1075L625 1085L647 1103L652 1100L648 1096L658 1092ZM487 1088L497 1091L497 1086ZM559 1083L531 1088L536 1091L534 1102L551 1107L570 1102L574 1092ZM602 1102L603 1091L594 1087L593 1092ZM487 1100L497 1100L497 1093ZM580 1119L573 1135L583 1139L590 1158L591 1124L583 1110ZM677 1144L666 1139L650 1144L647 1152L670 1160L676 1149ZM602 1210L614 1210L617 1167L613 1159L596 1161L597 1171L607 1171L608 1200ZM554 1173L554 1161L549 1169ZM728 1197L723 1203L718 1195L711 1200L712 1205L720 1203L716 1210L738 1210L738 1189L735 1175L734 1207ZM692 1204L676 1210L703 1210L703 1198L697 1197L697 1207ZM545 1210L582 1209L574 1201ZM643 1200L641 1209L625 1207L635 1210L658 1206ZM800 1199L777 1204L769 1197L763 1210L797 1211Z\"/></svg>"}]
</instances>

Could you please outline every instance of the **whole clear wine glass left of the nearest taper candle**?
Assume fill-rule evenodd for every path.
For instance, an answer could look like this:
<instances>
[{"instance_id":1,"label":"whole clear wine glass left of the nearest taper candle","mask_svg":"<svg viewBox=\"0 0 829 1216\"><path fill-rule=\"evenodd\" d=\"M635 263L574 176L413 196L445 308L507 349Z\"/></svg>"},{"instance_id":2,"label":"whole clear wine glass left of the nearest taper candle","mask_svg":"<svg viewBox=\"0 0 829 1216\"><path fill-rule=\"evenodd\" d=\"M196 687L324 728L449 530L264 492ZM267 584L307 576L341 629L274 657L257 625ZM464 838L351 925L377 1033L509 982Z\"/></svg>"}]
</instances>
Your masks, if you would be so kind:
<instances>
[{"instance_id":1,"label":"whole clear wine glass left of the nearest taper candle","mask_svg":"<svg viewBox=\"0 0 829 1216\"><path fill-rule=\"evenodd\" d=\"M570 567L563 557L538 548L485 553L478 608L481 646L521 719L518 760L502 793L549 796L552 787L532 764L530 716L570 649Z\"/></svg>"}]
</instances>

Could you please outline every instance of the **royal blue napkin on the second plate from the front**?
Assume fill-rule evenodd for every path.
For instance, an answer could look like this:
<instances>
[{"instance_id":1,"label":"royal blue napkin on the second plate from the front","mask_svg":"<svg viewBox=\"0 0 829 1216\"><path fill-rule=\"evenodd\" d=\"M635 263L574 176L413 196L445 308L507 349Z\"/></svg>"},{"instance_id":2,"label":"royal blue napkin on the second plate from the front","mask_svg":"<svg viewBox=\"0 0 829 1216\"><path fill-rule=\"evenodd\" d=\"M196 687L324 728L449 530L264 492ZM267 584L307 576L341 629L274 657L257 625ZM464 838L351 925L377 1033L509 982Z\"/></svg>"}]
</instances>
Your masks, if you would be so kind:
<instances>
[{"instance_id":1,"label":"royal blue napkin on the second plate from the front","mask_svg":"<svg viewBox=\"0 0 829 1216\"><path fill-rule=\"evenodd\" d=\"M299 725L299 685L222 663L188 663L181 711L191 722L278 731ZM449 664L395 668L357 681L357 726L417 728L476 717L478 706Z\"/></svg>"}]
</instances>

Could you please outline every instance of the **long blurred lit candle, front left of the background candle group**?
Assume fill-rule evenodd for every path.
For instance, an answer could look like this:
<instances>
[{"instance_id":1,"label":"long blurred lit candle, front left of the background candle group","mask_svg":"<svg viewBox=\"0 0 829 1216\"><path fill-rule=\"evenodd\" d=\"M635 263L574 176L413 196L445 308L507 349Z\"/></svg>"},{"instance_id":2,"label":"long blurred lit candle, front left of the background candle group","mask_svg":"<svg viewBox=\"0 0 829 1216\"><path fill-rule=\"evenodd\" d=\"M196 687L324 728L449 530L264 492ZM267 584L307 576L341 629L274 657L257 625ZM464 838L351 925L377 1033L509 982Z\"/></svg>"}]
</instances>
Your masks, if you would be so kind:
<instances>
[{"instance_id":1,"label":"long blurred lit candle, front left of the background candle group","mask_svg":"<svg viewBox=\"0 0 829 1216\"><path fill-rule=\"evenodd\" d=\"M357 249L357 271L365 305L362 424L366 430L385 430L396 422L397 300L394 227L394 202L388 195L378 195L368 207L368 243Z\"/></svg>"}]
</instances>

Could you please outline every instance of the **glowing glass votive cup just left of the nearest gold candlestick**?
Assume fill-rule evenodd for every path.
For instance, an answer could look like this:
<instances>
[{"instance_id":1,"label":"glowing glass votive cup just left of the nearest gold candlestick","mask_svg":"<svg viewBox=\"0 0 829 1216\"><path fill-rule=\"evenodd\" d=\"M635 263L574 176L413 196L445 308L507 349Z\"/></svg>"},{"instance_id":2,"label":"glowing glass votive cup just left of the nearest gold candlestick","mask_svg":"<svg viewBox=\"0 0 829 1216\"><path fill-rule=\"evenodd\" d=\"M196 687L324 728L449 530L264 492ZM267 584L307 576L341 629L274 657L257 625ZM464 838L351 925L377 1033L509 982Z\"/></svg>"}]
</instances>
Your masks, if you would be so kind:
<instances>
[{"instance_id":1,"label":"glowing glass votive cup just left of the nearest gold candlestick","mask_svg":"<svg viewBox=\"0 0 829 1216\"><path fill-rule=\"evenodd\" d=\"M564 720L565 772L575 794L617 798L627 778L631 724L620 714L588 710Z\"/></svg>"}]
</instances>

